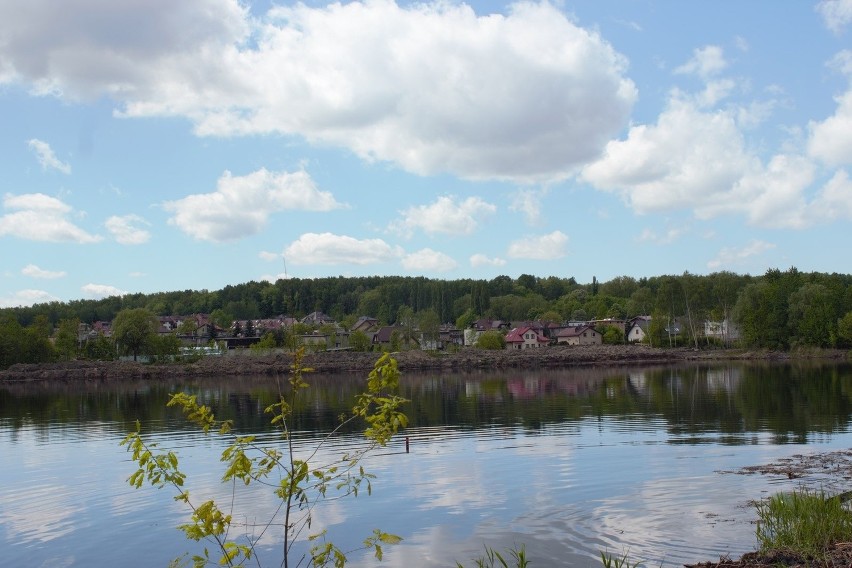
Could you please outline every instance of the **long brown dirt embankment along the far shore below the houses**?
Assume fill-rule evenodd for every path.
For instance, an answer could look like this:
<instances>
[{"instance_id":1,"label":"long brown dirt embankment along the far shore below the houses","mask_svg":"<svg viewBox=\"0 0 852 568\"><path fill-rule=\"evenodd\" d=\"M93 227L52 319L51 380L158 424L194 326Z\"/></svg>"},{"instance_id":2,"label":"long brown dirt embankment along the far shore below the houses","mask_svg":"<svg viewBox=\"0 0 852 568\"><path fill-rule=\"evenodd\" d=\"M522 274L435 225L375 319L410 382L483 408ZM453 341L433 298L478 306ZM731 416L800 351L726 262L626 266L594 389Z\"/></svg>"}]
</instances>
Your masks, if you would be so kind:
<instances>
[{"instance_id":1,"label":"long brown dirt embankment along the far shore below the houses","mask_svg":"<svg viewBox=\"0 0 852 568\"><path fill-rule=\"evenodd\" d=\"M820 352L819 357L842 358L846 352ZM309 354L304 364L321 373L369 371L377 353L348 351ZM554 346L522 351L487 351L466 348L453 353L402 351L394 354L403 371L474 371L483 369L535 369L576 365L664 364L684 361L732 359L785 360L778 352L742 350L696 351L655 349L640 345ZM0 371L0 381L121 380L169 377L277 375L290 371L289 353L242 352L203 357L192 363L142 364L132 361L66 361L39 365L13 365Z\"/></svg>"}]
</instances>

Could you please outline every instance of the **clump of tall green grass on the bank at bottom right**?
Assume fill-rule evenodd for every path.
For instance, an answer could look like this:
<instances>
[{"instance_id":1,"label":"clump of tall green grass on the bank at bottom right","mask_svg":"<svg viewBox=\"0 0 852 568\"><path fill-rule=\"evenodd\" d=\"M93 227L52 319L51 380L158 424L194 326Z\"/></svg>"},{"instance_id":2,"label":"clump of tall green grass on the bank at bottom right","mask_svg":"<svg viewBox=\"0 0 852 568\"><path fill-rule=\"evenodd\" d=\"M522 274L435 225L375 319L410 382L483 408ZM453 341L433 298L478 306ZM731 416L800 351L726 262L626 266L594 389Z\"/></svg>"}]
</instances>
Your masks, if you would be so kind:
<instances>
[{"instance_id":1,"label":"clump of tall green grass on the bank at bottom right","mask_svg":"<svg viewBox=\"0 0 852 568\"><path fill-rule=\"evenodd\" d=\"M852 511L822 492L779 493L758 503L757 515L762 551L789 550L818 560L832 544L852 540Z\"/></svg>"}]
</instances>

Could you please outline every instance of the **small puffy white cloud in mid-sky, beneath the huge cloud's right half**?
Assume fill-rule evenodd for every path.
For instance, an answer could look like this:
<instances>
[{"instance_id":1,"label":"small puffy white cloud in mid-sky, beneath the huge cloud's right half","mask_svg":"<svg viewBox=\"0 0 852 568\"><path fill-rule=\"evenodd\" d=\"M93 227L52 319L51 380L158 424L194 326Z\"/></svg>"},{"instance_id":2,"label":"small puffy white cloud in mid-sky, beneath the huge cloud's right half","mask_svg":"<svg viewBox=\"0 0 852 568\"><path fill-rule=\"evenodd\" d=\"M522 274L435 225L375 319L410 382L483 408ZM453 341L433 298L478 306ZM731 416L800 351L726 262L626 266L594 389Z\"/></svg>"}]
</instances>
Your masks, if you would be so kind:
<instances>
[{"instance_id":1,"label":"small puffy white cloud in mid-sky, beneath the huge cloud's right half","mask_svg":"<svg viewBox=\"0 0 852 568\"><path fill-rule=\"evenodd\" d=\"M497 207L480 199L468 197L459 201L455 196L441 196L431 205L410 207L402 211L402 219L391 229L411 235L415 229L429 234L470 235L479 223L493 215Z\"/></svg>"}]
</instances>

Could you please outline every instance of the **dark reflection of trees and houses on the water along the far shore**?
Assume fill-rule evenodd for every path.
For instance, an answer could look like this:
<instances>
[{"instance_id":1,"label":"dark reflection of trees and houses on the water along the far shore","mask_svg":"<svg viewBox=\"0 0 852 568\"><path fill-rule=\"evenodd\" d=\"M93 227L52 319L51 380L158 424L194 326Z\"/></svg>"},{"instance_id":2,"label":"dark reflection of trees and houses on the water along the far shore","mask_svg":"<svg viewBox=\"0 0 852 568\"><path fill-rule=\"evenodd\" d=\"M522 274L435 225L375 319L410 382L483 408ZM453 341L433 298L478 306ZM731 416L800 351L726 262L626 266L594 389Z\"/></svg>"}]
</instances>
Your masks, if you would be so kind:
<instances>
[{"instance_id":1,"label":"dark reflection of trees and houses on the water along the far shore","mask_svg":"<svg viewBox=\"0 0 852 568\"><path fill-rule=\"evenodd\" d=\"M311 377L312 387L296 408L295 429L336 426L362 380L359 375ZM269 428L264 409L284 386L286 380L269 377L8 384L0 386L0 420L11 440L21 428L32 428L37 443L50 443L49 436L63 425L69 427L63 435L81 439L91 433L79 429L97 423L115 428L140 420L173 429L179 412L166 408L166 402L171 393L184 390L197 394L221 418L234 420L240 430L257 432ZM662 418L674 442L700 443L708 435L731 444L752 443L748 434L757 432L771 433L776 443L802 443L814 433L844 431L850 393L852 371L846 364L409 373L402 386L403 396L411 399L412 427L520 425L535 431L606 416L635 429L643 421L656 428Z\"/></svg>"}]
</instances>

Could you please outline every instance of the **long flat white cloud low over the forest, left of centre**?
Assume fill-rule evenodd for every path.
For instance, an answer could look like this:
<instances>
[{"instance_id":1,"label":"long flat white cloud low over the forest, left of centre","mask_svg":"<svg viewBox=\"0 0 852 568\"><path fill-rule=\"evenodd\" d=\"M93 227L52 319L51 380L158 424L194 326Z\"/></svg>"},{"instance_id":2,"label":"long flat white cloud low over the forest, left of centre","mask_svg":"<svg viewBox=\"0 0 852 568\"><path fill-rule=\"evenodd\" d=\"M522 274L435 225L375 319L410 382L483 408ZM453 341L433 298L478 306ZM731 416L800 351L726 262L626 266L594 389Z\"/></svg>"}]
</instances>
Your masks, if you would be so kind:
<instances>
[{"instance_id":1,"label":"long flat white cloud low over the forest, left of centre","mask_svg":"<svg viewBox=\"0 0 852 568\"><path fill-rule=\"evenodd\" d=\"M305 233L286 249L284 258L295 264L357 264L388 262L402 256L399 247L382 239L355 239L332 233Z\"/></svg>"}]
</instances>

